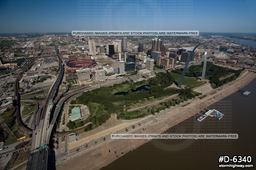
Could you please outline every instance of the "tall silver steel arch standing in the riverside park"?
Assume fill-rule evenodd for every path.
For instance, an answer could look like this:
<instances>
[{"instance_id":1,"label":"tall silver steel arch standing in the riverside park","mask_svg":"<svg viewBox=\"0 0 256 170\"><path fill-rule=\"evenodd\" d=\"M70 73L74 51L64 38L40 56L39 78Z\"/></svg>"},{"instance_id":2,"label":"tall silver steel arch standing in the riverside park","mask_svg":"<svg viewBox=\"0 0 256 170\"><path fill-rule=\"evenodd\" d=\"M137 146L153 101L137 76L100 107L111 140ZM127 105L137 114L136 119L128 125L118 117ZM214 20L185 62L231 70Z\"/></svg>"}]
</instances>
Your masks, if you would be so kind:
<instances>
[{"instance_id":1,"label":"tall silver steel arch standing in the riverside park","mask_svg":"<svg viewBox=\"0 0 256 170\"><path fill-rule=\"evenodd\" d=\"M192 58L192 55L194 53L194 51L196 50L196 48L200 45L203 45L204 46L204 67L203 67L203 73L202 73L202 78L201 80L204 80L204 76L205 76L205 71L206 71L206 61L207 61L207 51L206 51L206 46L204 44L198 44L194 49L193 51L191 52L191 54L189 55L188 59L187 59L187 62L186 62L186 65L184 67L184 70L182 72L182 75L181 75L181 78L180 78L180 81L179 81L179 84L178 84L178 87L181 88L181 84L183 82L183 79L184 79L184 76L185 76L185 72L187 70L187 67L188 67L188 64Z\"/></svg>"}]
</instances>

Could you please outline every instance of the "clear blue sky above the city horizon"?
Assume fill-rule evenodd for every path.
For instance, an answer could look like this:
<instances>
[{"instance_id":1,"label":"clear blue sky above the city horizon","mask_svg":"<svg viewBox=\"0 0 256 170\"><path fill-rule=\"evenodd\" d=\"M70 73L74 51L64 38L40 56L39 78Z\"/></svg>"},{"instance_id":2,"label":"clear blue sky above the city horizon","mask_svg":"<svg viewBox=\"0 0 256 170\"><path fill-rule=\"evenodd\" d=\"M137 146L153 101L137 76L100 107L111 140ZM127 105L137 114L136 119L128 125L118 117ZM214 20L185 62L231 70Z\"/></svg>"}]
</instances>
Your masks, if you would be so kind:
<instances>
[{"instance_id":1,"label":"clear blue sky above the city horizon","mask_svg":"<svg viewBox=\"0 0 256 170\"><path fill-rule=\"evenodd\" d=\"M0 33L200 31L256 33L256 0L1 0Z\"/></svg>"}]
</instances>

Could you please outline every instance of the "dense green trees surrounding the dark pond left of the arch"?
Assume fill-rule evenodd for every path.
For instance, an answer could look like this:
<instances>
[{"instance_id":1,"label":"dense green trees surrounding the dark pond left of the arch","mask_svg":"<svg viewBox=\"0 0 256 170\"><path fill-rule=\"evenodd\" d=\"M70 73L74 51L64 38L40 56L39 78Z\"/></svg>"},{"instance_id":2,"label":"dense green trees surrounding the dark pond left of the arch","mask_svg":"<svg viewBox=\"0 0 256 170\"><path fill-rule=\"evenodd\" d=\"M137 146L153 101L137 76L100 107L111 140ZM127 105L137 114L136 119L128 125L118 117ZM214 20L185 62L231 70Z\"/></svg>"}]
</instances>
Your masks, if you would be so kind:
<instances>
[{"instance_id":1,"label":"dense green trees surrounding the dark pond left of the arch","mask_svg":"<svg viewBox=\"0 0 256 170\"><path fill-rule=\"evenodd\" d=\"M150 87L148 91L129 91L129 94L127 95L113 95L112 91L124 84L129 84L132 89L135 89L136 86L145 83L145 81L136 83L125 81L120 84L114 84L113 86L101 87L92 91L83 92L82 95L76 98L76 101L72 100L71 104L84 104L89 107L89 110L94 110L95 112L91 113L91 116L86 119L86 122L91 122L92 126L99 126L102 123L105 123L106 120L110 118L111 114L119 114L123 111L124 106L129 106L132 103L138 103L140 100L149 99L150 97L159 98L177 93L175 89L166 88L173 83L173 78L169 74L162 72L157 73L156 77L149 79L148 82ZM94 103L98 104L97 108L93 108ZM124 104L117 106L116 103Z\"/></svg>"}]
</instances>

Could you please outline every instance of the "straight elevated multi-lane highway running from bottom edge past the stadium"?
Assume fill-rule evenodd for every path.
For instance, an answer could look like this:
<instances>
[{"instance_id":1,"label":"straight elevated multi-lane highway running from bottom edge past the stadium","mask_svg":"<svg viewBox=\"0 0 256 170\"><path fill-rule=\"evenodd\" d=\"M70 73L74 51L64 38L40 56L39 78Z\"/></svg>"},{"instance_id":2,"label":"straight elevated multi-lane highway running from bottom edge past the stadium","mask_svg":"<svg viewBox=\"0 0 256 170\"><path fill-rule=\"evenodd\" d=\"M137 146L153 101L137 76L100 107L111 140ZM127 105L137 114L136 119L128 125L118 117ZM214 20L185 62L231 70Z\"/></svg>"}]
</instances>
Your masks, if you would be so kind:
<instances>
[{"instance_id":1,"label":"straight elevated multi-lane highway running from bottom edge past the stadium","mask_svg":"<svg viewBox=\"0 0 256 170\"><path fill-rule=\"evenodd\" d=\"M33 140L31 145L30 157L27 165L27 170L30 169L47 169L48 165L48 144L51 130L49 129L49 119L53 108L54 98L58 94L59 85L62 82L64 75L62 61L57 50L57 57L59 59L59 76L50 87L49 94L46 98L45 106L40 108L35 118L35 130L33 131ZM47 146L46 146L47 145ZM46 146L41 148L42 146Z\"/></svg>"}]
</instances>

